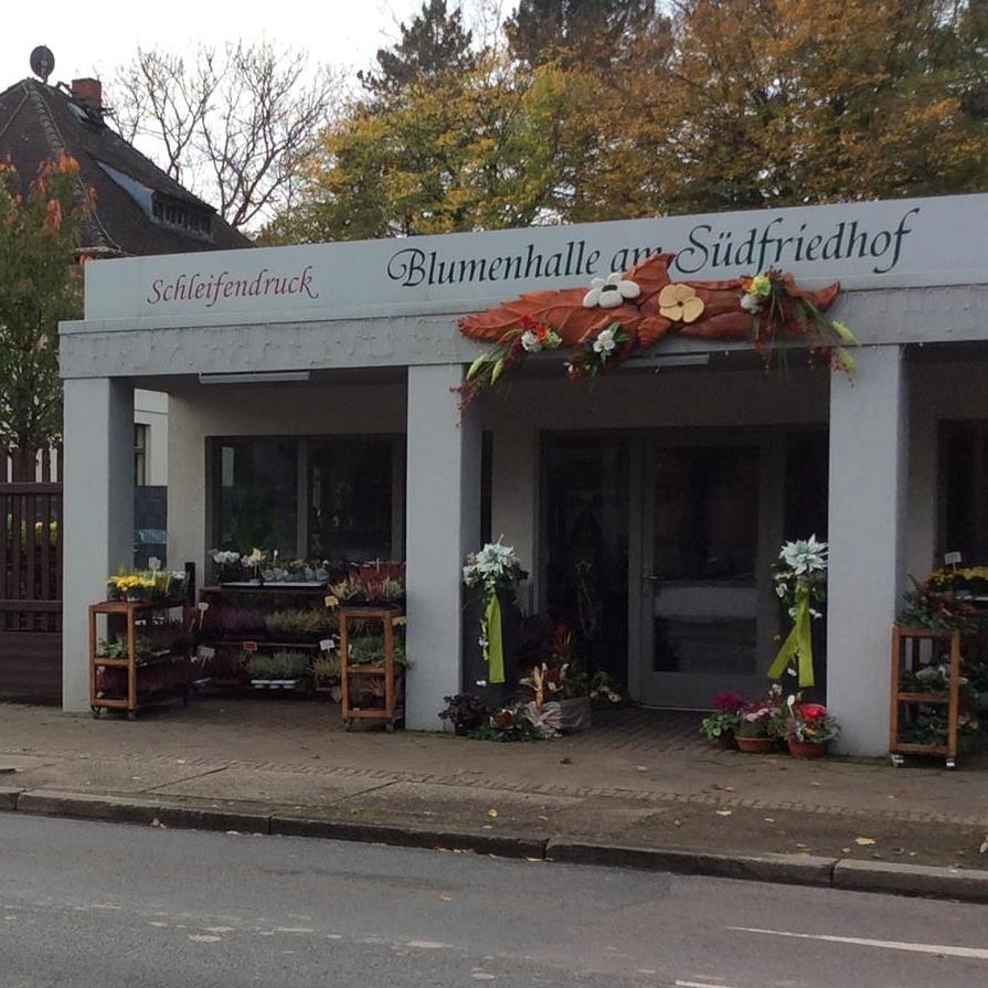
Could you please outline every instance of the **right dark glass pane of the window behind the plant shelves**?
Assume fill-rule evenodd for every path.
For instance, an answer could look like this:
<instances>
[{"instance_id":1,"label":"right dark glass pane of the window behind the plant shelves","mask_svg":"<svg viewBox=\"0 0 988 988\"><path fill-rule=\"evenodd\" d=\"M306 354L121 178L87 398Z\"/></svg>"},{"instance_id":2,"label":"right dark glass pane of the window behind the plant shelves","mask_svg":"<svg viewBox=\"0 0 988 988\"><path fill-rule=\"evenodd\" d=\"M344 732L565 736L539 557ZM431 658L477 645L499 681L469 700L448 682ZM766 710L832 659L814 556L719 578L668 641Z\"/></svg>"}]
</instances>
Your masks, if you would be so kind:
<instances>
[{"instance_id":1,"label":"right dark glass pane of the window behind the plant shelves","mask_svg":"<svg viewBox=\"0 0 988 988\"><path fill-rule=\"evenodd\" d=\"M393 457L390 438L309 443L310 556L355 561L392 556Z\"/></svg>"}]
</instances>

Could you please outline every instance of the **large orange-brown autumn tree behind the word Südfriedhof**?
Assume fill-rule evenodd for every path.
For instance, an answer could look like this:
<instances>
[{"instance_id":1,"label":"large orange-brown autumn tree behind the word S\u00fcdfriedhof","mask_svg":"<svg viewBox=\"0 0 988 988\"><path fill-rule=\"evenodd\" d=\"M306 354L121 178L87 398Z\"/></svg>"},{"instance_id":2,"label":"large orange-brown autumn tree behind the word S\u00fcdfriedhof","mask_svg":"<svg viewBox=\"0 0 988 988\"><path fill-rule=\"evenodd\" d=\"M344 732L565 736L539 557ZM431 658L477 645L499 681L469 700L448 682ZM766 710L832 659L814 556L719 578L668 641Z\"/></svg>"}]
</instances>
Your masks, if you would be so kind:
<instances>
[{"instance_id":1,"label":"large orange-brown autumn tree behind the word S\u00fcdfriedhof","mask_svg":"<svg viewBox=\"0 0 988 988\"><path fill-rule=\"evenodd\" d=\"M605 134L585 162L581 219L985 188L985 70L974 57L984 33L973 6L674 7L671 46L657 39L630 75L602 77Z\"/></svg>"}]
</instances>

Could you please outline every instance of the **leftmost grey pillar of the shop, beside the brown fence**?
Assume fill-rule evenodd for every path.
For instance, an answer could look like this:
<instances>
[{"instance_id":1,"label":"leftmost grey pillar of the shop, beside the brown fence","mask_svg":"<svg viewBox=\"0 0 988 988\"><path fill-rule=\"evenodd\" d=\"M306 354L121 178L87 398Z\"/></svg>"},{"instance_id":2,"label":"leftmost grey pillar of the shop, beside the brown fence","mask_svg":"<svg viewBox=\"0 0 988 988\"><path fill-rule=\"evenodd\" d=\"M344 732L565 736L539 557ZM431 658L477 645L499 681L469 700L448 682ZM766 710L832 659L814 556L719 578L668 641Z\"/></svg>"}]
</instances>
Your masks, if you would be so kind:
<instances>
[{"instance_id":1,"label":"leftmost grey pillar of the shop, beside the brown fence","mask_svg":"<svg viewBox=\"0 0 988 988\"><path fill-rule=\"evenodd\" d=\"M62 707L89 705L88 607L106 578L134 564L134 386L110 378L65 383Z\"/></svg>"}]
</instances>

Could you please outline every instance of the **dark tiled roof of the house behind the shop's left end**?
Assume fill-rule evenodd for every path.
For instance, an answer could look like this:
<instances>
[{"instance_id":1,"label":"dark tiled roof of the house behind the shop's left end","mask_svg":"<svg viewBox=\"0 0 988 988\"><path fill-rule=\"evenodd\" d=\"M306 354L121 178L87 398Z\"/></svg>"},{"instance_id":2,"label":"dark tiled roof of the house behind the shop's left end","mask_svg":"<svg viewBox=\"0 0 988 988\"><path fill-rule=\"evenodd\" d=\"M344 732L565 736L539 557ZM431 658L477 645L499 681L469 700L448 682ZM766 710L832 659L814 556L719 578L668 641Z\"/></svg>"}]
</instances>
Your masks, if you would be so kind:
<instances>
[{"instance_id":1,"label":"dark tiled roof of the house behind the shop's left end","mask_svg":"<svg viewBox=\"0 0 988 988\"><path fill-rule=\"evenodd\" d=\"M72 93L33 78L0 93L0 159L12 159L25 188L43 161L62 153L78 161L81 182L96 193L83 247L119 256L252 246L213 206L182 188ZM210 235L156 219L152 202L159 209L167 204L209 217Z\"/></svg>"}]
</instances>

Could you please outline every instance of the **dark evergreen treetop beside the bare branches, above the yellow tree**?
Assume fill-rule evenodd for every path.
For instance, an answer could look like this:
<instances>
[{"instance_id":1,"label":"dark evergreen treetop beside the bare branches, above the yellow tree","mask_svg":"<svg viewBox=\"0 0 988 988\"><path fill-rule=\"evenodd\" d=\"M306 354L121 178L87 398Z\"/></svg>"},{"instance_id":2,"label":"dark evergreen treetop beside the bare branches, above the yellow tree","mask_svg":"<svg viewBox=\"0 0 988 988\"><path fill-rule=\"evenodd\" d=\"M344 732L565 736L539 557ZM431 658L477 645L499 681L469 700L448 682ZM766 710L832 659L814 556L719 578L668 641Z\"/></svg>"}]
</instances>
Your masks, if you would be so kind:
<instances>
[{"instance_id":1,"label":"dark evergreen treetop beside the bare branches, above the yellow tree","mask_svg":"<svg viewBox=\"0 0 988 988\"><path fill-rule=\"evenodd\" d=\"M371 102L379 106L413 82L469 72L477 64L472 33L464 25L463 10L449 10L446 0L423 2L408 24L399 25L399 34L393 45L378 50L373 70L357 74Z\"/></svg>"}]
</instances>

